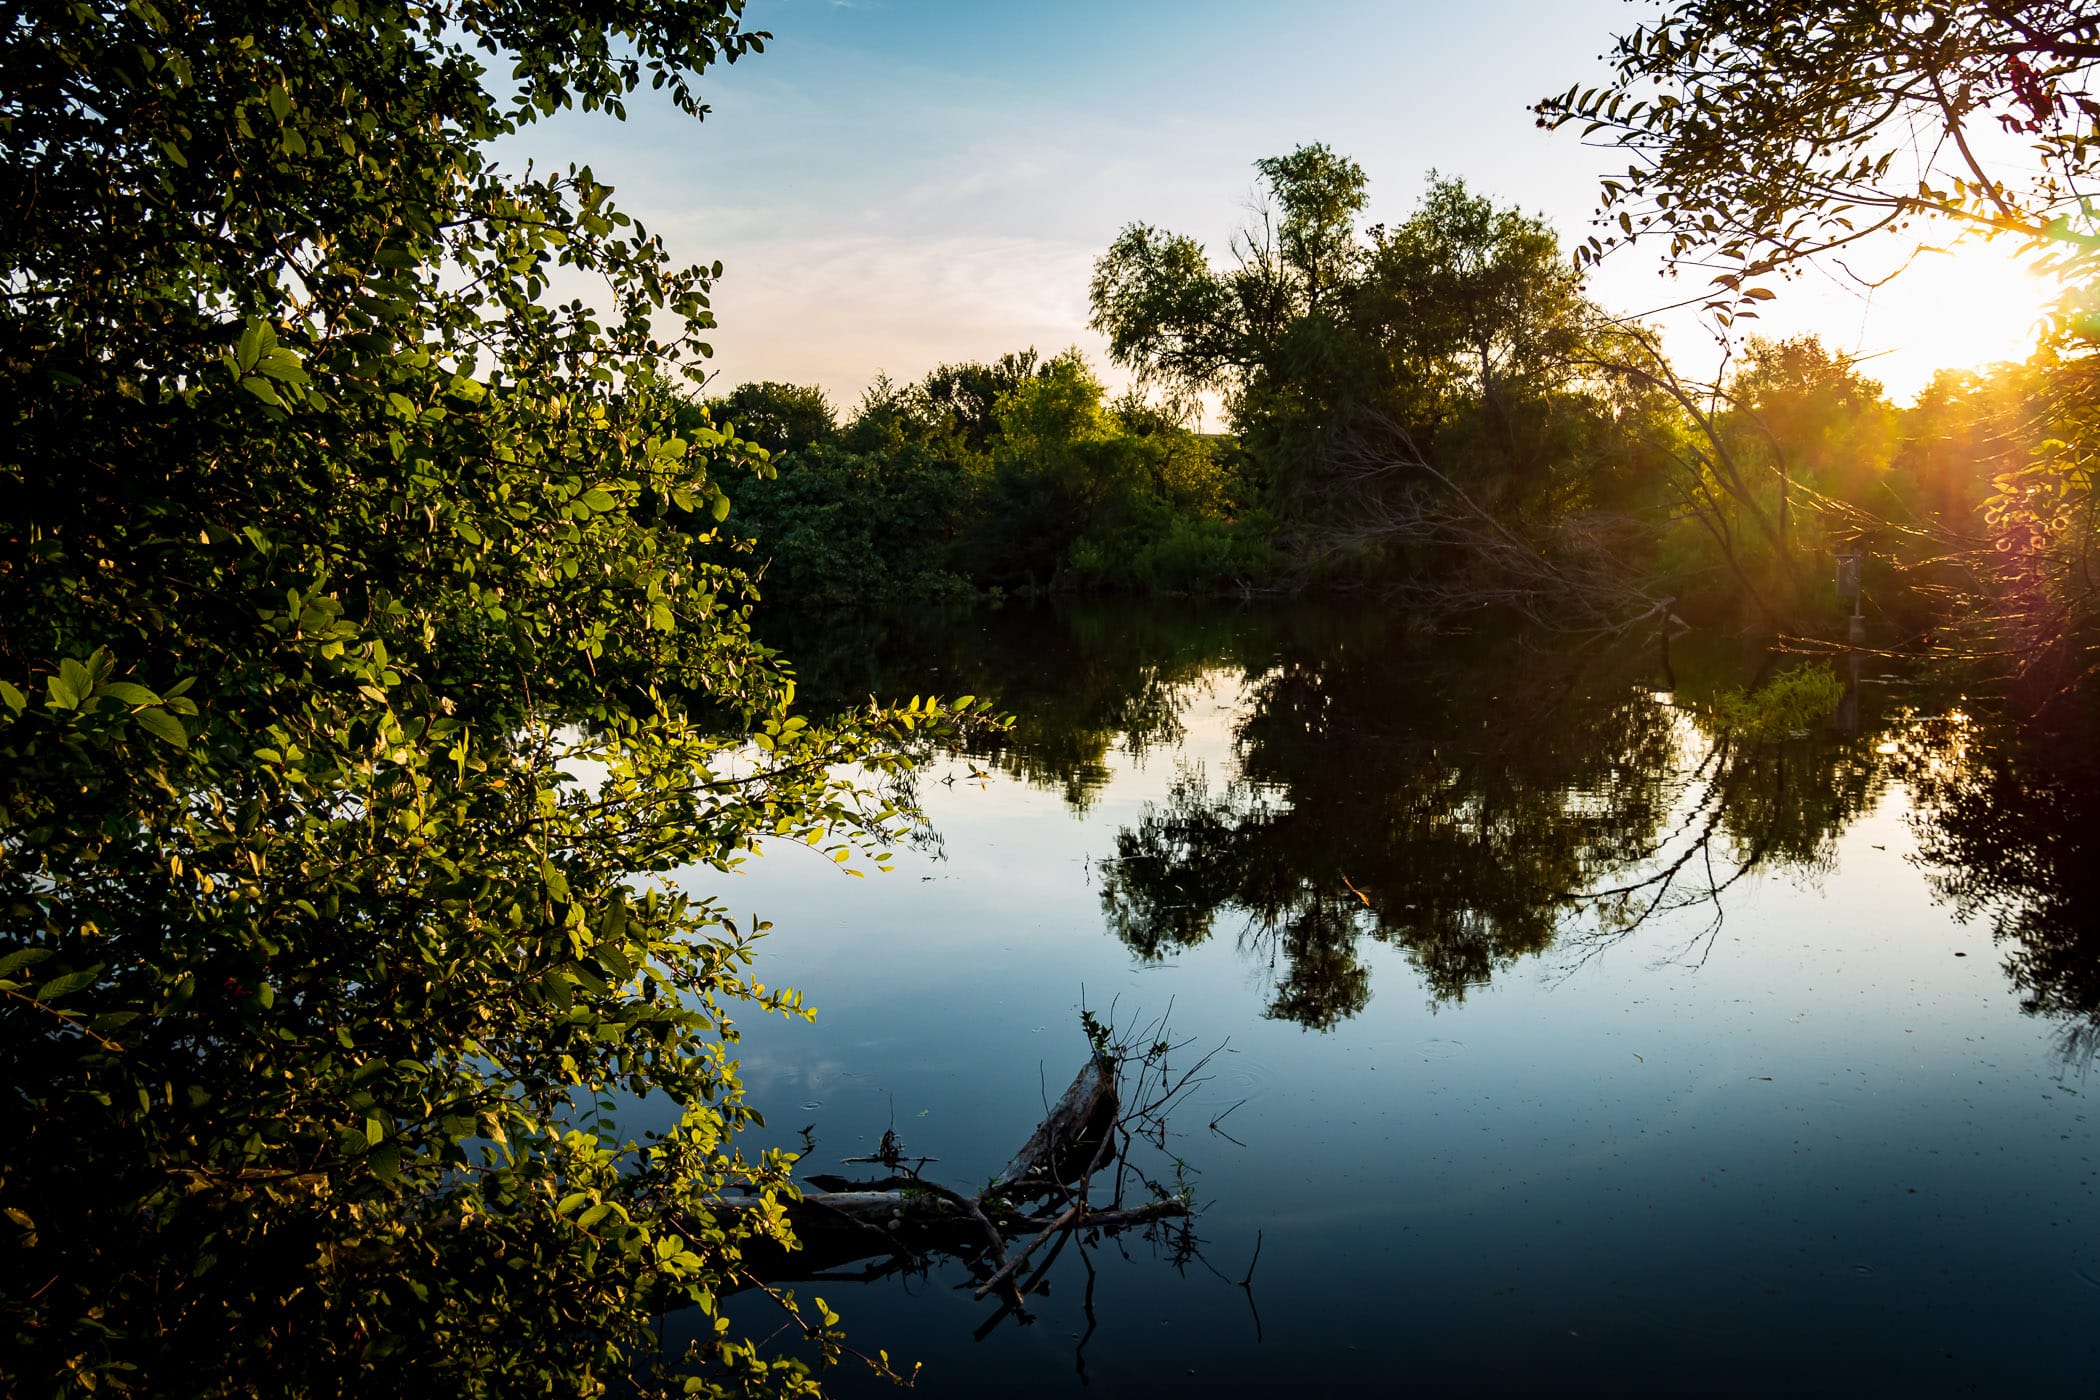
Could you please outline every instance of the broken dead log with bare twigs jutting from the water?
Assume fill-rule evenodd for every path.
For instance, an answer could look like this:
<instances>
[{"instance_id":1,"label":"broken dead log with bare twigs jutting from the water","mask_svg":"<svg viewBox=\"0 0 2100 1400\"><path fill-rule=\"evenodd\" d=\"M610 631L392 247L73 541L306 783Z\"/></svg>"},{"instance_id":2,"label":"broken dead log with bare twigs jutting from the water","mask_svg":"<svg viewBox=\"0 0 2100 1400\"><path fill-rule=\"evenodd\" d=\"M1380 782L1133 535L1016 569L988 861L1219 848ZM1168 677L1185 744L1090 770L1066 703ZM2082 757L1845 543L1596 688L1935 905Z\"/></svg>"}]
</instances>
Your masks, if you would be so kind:
<instances>
[{"instance_id":1,"label":"broken dead log with bare twigs jutting from the water","mask_svg":"<svg viewBox=\"0 0 2100 1400\"><path fill-rule=\"evenodd\" d=\"M1050 1261L1071 1238L1086 1249L1102 1234L1189 1217L1189 1192L1144 1175L1130 1148L1163 1146L1166 1110L1201 1083L1210 1056L1174 1075L1168 1056L1180 1045L1163 1037L1151 1037L1138 1054L1111 1047L1107 1037L1096 1037L1096 1045L1012 1161L974 1194L922 1178L920 1167L934 1159L907 1157L895 1133L884 1133L876 1154L844 1159L884 1165L888 1175L804 1178L798 1199L781 1199L796 1247L746 1243L752 1282L874 1280L924 1270L932 1255L947 1255L970 1268L976 1297L1002 1297L989 1329L1008 1314L1027 1318L1023 1299L1044 1287ZM1132 1186L1142 1188L1140 1201L1126 1201ZM756 1209L756 1201L722 1205ZM1029 1259L1052 1240L1044 1264L1023 1278ZM838 1272L850 1266L863 1268Z\"/></svg>"}]
</instances>

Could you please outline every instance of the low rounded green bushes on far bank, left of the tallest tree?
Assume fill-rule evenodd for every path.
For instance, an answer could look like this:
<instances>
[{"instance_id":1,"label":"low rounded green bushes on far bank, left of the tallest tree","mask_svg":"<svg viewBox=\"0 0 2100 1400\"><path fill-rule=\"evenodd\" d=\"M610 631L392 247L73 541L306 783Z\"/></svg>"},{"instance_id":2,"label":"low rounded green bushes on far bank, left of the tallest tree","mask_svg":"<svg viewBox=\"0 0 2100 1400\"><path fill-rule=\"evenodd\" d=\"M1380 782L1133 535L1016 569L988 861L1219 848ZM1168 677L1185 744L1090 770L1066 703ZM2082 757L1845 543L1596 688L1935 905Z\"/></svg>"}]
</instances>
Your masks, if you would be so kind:
<instances>
[{"instance_id":1,"label":"low rounded green bushes on far bank, left of the tallest tree","mask_svg":"<svg viewBox=\"0 0 2100 1400\"><path fill-rule=\"evenodd\" d=\"M746 384L729 403L815 390ZM1077 351L880 380L830 439L737 489L731 529L796 604L976 588L1210 592L1268 567L1212 443L1172 407L1109 403Z\"/></svg>"}]
</instances>

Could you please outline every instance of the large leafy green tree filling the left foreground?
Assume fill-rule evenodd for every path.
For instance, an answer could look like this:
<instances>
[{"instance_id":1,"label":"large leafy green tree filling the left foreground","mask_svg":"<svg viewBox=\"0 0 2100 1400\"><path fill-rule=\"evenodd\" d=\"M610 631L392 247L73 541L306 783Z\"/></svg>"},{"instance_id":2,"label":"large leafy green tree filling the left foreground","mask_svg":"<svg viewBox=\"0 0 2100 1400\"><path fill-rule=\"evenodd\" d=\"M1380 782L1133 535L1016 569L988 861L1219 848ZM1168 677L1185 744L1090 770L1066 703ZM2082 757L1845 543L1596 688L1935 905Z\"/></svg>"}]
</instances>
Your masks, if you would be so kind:
<instances>
[{"instance_id":1,"label":"large leafy green tree filling the left foreground","mask_svg":"<svg viewBox=\"0 0 2100 1400\"><path fill-rule=\"evenodd\" d=\"M895 772L901 724L794 714L704 554L752 458L670 393L714 269L590 170L487 155L643 82L699 115L762 38L739 0L10 13L21 1394L653 1387L657 1312L716 1312L779 1234L714 1211L785 1167L735 1146L731 1007L800 1005L672 873L880 842L897 812L830 772ZM556 267L609 309L552 304ZM806 1387L727 1324L695 1364Z\"/></svg>"}]
</instances>

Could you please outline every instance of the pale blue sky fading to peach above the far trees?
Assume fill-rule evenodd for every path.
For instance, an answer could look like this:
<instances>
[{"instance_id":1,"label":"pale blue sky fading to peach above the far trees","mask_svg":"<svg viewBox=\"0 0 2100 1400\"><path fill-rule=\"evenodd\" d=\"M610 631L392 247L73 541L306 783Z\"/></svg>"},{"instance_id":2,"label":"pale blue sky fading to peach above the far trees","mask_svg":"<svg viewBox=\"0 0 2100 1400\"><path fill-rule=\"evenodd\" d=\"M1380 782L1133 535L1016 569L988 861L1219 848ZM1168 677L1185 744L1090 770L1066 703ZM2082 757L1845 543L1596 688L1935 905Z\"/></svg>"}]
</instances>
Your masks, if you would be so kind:
<instances>
[{"instance_id":1,"label":"pale blue sky fading to peach above the far trees","mask_svg":"<svg viewBox=\"0 0 2100 1400\"><path fill-rule=\"evenodd\" d=\"M647 92L626 124L563 115L504 157L586 162L674 256L724 264L714 390L817 384L840 407L888 374L1079 346L1092 262L1128 222L1216 258L1245 220L1254 162L1327 143L1369 176L1365 222L1399 222L1430 170L1590 235L1623 160L1529 105L1604 76L1611 34L1648 0L752 0L764 55L704 80L712 111ZM1892 269L1898 248L1852 271ZM1592 294L1619 313L1693 296L1644 248ZM2014 252L1926 254L1865 292L1810 271L1762 332L1814 332L1867 359L1898 403L1940 365L2020 359L2043 290ZM1690 313L1657 317L1682 372L1720 348Z\"/></svg>"}]
</instances>

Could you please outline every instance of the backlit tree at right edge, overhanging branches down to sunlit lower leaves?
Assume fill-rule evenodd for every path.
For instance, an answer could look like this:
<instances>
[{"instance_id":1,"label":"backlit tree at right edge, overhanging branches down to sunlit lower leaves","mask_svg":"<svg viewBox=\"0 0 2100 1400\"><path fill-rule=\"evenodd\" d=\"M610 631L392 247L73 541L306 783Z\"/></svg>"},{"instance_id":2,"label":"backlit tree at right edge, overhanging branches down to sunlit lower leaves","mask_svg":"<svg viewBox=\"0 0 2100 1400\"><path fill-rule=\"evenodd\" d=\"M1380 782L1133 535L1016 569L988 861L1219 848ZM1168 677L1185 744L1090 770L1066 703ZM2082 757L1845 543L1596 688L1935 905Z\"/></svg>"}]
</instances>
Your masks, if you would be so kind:
<instances>
[{"instance_id":1,"label":"backlit tree at right edge, overhanging branches down to sunlit lower leaves","mask_svg":"<svg viewBox=\"0 0 2100 1400\"><path fill-rule=\"evenodd\" d=\"M1537 105L1541 126L1581 124L1632 157L1602 185L1617 231L1579 256L1659 237L1676 267L1714 271L1705 306L1722 323L1754 315L1774 273L1880 233L1913 254L1926 237L2014 235L2066 279L2033 405L2058 430L2001 474L1997 548L1968 558L1970 596L2026 655L2079 646L2100 598L2096 65L2100 17L2083 4L1686 0L1615 42L1604 84Z\"/></svg>"}]
</instances>

